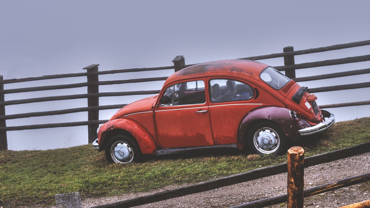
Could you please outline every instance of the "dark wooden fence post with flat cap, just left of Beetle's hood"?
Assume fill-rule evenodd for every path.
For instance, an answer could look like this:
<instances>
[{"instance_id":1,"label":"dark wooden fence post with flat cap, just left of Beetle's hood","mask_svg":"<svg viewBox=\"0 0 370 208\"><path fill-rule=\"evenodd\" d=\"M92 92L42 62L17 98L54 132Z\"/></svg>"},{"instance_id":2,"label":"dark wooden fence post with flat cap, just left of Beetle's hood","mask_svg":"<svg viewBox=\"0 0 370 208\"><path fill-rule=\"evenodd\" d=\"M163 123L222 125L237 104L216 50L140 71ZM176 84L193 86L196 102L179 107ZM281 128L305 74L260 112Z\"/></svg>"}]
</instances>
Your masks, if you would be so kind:
<instances>
[{"instance_id":1,"label":"dark wooden fence post with flat cap, just left of Beetle's hood","mask_svg":"<svg viewBox=\"0 0 370 208\"><path fill-rule=\"evenodd\" d=\"M90 66L87 66L83 69L86 69L87 72L95 72L98 71L99 64L92 64ZM87 76L87 82L97 82L99 81L99 75L88 75ZM99 93L99 85L88 85L87 86L87 93ZM99 106L99 97L89 97L87 98L87 106ZM88 121L97 121L99 120L99 110L91 110L88 111ZM89 144L92 143L96 138L96 131L99 127L99 124L91 124L88 125L88 141Z\"/></svg>"}]
</instances>

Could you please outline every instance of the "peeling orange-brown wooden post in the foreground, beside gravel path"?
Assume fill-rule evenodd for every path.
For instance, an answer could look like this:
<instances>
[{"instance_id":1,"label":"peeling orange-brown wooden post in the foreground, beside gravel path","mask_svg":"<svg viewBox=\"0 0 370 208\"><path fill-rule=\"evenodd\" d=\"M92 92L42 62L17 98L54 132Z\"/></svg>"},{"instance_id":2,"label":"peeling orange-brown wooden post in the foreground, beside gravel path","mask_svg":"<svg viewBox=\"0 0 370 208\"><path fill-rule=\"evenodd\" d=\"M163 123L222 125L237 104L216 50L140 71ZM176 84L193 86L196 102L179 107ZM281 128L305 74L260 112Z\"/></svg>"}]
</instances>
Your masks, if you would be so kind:
<instances>
[{"instance_id":1,"label":"peeling orange-brown wooden post in the foreground, beside gravel path","mask_svg":"<svg viewBox=\"0 0 370 208\"><path fill-rule=\"evenodd\" d=\"M305 150L292 147L288 150L287 208L303 208Z\"/></svg>"}]
</instances>

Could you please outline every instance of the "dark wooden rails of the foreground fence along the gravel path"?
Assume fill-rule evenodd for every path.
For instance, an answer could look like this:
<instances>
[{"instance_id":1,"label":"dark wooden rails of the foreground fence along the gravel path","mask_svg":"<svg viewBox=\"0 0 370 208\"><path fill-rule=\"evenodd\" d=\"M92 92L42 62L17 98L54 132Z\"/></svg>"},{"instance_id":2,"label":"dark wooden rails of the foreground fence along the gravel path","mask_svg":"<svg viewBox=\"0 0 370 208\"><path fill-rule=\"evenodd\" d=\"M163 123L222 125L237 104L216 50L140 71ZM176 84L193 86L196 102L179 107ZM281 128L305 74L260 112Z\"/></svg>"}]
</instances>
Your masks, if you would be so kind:
<instances>
[{"instance_id":1,"label":"dark wooden rails of the foreground fence along the gravel path","mask_svg":"<svg viewBox=\"0 0 370 208\"><path fill-rule=\"evenodd\" d=\"M326 152L319 155L314 155L311 157L304 158L300 157L300 166L297 167L301 168L303 172L303 168L311 167L314 165L323 164L326 162L331 162L335 160L340 160L343 158L351 157L354 155L364 154L366 152L370 152L370 142L366 142L363 144L359 144L353 147L347 147L341 150L336 150L332 152ZM289 155L289 154L288 154ZM289 159L288 159L289 163ZM280 164L280 165L273 165L270 167L259 168L255 170L251 170L248 172L243 172L235 175L230 175L227 177L217 178L211 181L201 182L199 184L188 185L185 187L180 187L168 191L158 192L151 195L146 195L142 197L127 199L124 201L118 201L110 204L103 204L98 205L92 208L118 208L118 207L135 207L138 205L149 204L153 202L163 201L166 199L182 197L189 194L195 194L203 191L209 191L216 188L221 188L229 185L239 184L242 182L252 181L259 178L264 178L280 173L290 172L290 174L295 174L297 171L292 168L292 165L288 163ZM303 165L302 165L303 164ZM288 168L291 167L291 168ZM323 192L333 191L334 189L339 189L343 187L347 187L354 184L359 184L362 182L370 181L370 172L365 174L356 175L350 178L344 178L339 181L330 182L327 184L319 185L316 187L308 188L303 190L303 174L300 175L301 178L297 181L301 183L300 188L302 193L302 198L298 200L302 200L303 197L309 197L316 194L321 194ZM289 173L288 173L289 177ZM297 176L295 175L297 178ZM296 181L296 182L297 182ZM289 188L289 187L288 187ZM289 193L289 191L288 191ZM295 198L294 198L295 199ZM287 202L287 194L278 195L275 197L270 197L266 199L261 199L258 201L249 202L246 204L240 204L230 208L259 208L259 207L266 207L270 205L280 204L283 202ZM303 203L300 204L303 208ZM293 206L299 208L299 206Z\"/></svg>"}]
</instances>

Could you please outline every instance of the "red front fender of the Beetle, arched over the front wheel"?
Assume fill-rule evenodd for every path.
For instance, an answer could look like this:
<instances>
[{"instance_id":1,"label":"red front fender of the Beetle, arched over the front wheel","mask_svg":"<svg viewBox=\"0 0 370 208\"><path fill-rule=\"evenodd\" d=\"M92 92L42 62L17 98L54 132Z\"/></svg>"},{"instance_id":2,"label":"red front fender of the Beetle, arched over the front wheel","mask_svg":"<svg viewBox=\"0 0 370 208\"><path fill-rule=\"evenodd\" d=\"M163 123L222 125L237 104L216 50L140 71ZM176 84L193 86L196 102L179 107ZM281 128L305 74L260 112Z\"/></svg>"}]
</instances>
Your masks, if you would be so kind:
<instances>
[{"instance_id":1,"label":"red front fender of the Beetle, arched over the front wheel","mask_svg":"<svg viewBox=\"0 0 370 208\"><path fill-rule=\"evenodd\" d=\"M131 134L138 142L142 154L151 154L157 149L154 139L141 124L129 118L117 118L108 121L99 128L98 143L101 150L104 149L105 137L112 130L124 130Z\"/></svg>"}]
</instances>

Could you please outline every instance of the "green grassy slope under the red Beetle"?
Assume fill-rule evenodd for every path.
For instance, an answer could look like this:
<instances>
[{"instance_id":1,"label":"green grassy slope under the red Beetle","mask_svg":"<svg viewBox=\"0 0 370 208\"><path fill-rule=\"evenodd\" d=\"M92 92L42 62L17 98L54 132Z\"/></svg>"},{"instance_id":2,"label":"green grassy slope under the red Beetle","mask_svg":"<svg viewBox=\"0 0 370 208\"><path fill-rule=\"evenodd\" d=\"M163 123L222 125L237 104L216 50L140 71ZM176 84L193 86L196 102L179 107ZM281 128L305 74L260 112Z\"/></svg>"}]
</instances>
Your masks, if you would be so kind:
<instances>
[{"instance_id":1,"label":"green grassy slope under the red Beetle","mask_svg":"<svg viewBox=\"0 0 370 208\"><path fill-rule=\"evenodd\" d=\"M303 142L315 155L370 141L370 118L336 123ZM0 205L53 204L54 194L79 191L82 198L193 184L280 164L286 155L256 157L235 150L149 157L141 163L108 164L91 145L46 151L0 152Z\"/></svg>"}]
</instances>

